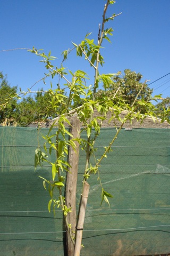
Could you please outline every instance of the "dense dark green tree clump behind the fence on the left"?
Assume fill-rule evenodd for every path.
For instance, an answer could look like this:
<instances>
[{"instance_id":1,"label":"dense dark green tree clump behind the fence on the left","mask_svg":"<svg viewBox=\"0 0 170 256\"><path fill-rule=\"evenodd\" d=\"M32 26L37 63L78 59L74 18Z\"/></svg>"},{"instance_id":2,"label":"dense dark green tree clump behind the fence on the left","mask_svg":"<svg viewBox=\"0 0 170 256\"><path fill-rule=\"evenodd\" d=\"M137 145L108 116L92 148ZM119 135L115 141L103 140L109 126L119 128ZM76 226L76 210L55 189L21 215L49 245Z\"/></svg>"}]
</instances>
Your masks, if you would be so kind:
<instances>
[{"instance_id":1,"label":"dense dark green tree clump behind the fence on the left","mask_svg":"<svg viewBox=\"0 0 170 256\"><path fill-rule=\"evenodd\" d=\"M22 99L16 98L17 86L11 87L7 82L7 76L0 73L0 123L7 118L7 123L19 126L28 126L33 122L44 118L55 117L54 110L50 108L54 92L39 90L35 95L29 95Z\"/></svg>"}]
</instances>

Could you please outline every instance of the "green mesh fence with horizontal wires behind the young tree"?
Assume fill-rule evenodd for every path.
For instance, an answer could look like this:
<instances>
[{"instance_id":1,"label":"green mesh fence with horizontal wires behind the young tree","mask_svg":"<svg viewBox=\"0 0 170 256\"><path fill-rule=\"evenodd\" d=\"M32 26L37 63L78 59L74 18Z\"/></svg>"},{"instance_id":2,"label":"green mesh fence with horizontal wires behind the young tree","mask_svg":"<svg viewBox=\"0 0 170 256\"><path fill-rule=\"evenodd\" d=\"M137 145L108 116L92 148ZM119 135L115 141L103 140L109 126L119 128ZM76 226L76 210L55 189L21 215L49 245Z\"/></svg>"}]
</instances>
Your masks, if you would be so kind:
<instances>
[{"instance_id":1,"label":"green mesh fence with horizontal wires behind the young tree","mask_svg":"<svg viewBox=\"0 0 170 256\"><path fill-rule=\"evenodd\" d=\"M115 132L101 129L95 144L97 158ZM62 212L54 218L47 211L49 196L38 177L50 179L50 166L36 172L33 166L35 149L44 140L34 128L0 127L0 133L0 255L64 255ZM100 207L98 175L91 176L81 255L168 254L169 130L123 129L112 149L99 170L104 189L114 197L110 208L105 203ZM84 151L80 150L78 202L83 171Z\"/></svg>"}]
</instances>

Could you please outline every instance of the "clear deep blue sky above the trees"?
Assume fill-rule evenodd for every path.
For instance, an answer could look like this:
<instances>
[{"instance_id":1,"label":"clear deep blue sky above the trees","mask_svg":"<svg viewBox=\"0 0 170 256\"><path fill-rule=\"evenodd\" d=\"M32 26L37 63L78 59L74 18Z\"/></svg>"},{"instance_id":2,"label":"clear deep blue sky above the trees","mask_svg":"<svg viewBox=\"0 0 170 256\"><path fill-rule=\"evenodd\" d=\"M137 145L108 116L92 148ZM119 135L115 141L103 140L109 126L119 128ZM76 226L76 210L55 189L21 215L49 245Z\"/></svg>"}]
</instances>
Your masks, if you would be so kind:
<instances>
[{"instance_id":1,"label":"clear deep blue sky above the trees","mask_svg":"<svg viewBox=\"0 0 170 256\"><path fill-rule=\"evenodd\" d=\"M0 50L19 47L44 49L62 60L61 52L80 43L88 32L97 39L104 0L5 0L1 1ZM129 68L143 75L143 81L154 82L170 73L170 1L117 0L110 5L108 15L122 14L109 22L114 29L112 44L103 43L105 65L100 73L117 73ZM82 69L94 76L88 63L70 54L64 65L75 71ZM0 52L0 70L7 74L11 86L27 90L46 72L36 55L24 50ZM53 86L55 87L55 83ZM50 85L42 82L33 89ZM170 74L150 85L154 94L170 96Z\"/></svg>"}]
</instances>

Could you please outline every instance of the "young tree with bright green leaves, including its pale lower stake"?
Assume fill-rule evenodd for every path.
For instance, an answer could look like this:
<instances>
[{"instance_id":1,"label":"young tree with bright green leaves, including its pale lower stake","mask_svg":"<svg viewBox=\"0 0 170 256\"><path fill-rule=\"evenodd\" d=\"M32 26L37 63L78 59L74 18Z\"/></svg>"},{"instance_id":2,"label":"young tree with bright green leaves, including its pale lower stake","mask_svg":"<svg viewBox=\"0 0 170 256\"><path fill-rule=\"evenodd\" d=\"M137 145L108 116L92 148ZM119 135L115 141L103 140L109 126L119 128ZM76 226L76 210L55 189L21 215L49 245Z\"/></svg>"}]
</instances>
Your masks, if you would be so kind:
<instances>
[{"instance_id":1,"label":"young tree with bright green leaves, including its pale lower stake","mask_svg":"<svg viewBox=\"0 0 170 256\"><path fill-rule=\"evenodd\" d=\"M106 39L111 42L109 36L112 36L113 29L105 28L106 22L114 20L120 14L113 14L107 18L106 13L109 5L114 4L114 1L107 0L104 6L103 20L99 25L98 40L95 43L94 39L90 39L91 33L87 34L81 43L73 43L73 48L65 50L63 54L63 61L61 65L53 66L52 61L55 57L51 55L51 52L45 54L42 50L37 50L33 47L32 50L28 50L31 53L38 55L41 58L41 62L45 64L48 74L46 77L52 78L58 77L58 83L55 90L52 88L50 91L50 107L49 109L55 113L52 125L48 130L48 134L43 136L45 143L44 148L40 146L36 149L35 154L35 168L40 165L43 166L44 162L47 162L51 166L52 179L47 180L44 177L43 186L50 195L48 203L49 212L53 209L57 214L56 208L62 209L65 219L65 226L67 234L70 236L71 242L74 245L74 251L70 255L80 255L81 239L83 232L84 215L86 211L86 203L88 198L89 185L87 180L92 174L97 174L97 182L101 187L101 204L105 201L109 205L109 198L112 197L103 187L103 183L100 179L100 163L103 158L107 157L107 154L112 150L114 141L120 133L123 125L135 118L142 122L147 116L150 116L155 121L155 106L152 105L150 99L142 97L142 90L146 86L146 82L140 84L139 90L135 92L135 97L131 102L127 102L120 97L122 91L122 83L118 84L116 90L112 95L105 94L104 97L97 97L97 90L99 85L103 85L105 90L111 89L115 85L115 77L118 74L101 74L99 67L104 64L104 57L101 55L101 43ZM89 66L94 69L94 84L88 85L89 76L81 69L76 70L74 73L66 69L63 64L69 57L69 54L76 51L78 57L84 57ZM70 78L71 77L71 78ZM67 92L67 93L66 93ZM156 98L160 96L157 95ZM154 100L154 98L152 98ZM58 107L60 106L60 107ZM73 107L75 106L75 107ZM142 113L140 107L142 106ZM125 116L122 118L122 111L126 110ZM97 116L94 117L94 111ZM116 129L116 134L107 147L103 149L103 155L100 159L96 159L95 142L100 137L100 128L103 121L106 119L108 112L111 112L112 116L109 122L113 125L113 129ZM67 129L67 126L71 126L70 119L77 117L82 125L82 131L86 131L87 138L82 139L80 134L74 137L72 133ZM164 116L166 119L167 116ZM121 122L120 127L116 126L116 122ZM54 129L57 128L57 131ZM84 158L84 174L82 177L82 196L80 201L80 209L77 219L77 230L73 229L69 222L68 215L72 212L72 206L66 205L64 197L64 173L73 172L72 166L68 160L69 149L72 148L77 152L78 146L86 152ZM47 147L48 145L48 147ZM50 162L48 156L52 154L52 151L56 152L56 158L54 162ZM95 165L91 165L91 159L94 158ZM75 184L76 186L76 184ZM56 195L57 194L57 195ZM75 210L74 210L75 211Z\"/></svg>"}]
</instances>

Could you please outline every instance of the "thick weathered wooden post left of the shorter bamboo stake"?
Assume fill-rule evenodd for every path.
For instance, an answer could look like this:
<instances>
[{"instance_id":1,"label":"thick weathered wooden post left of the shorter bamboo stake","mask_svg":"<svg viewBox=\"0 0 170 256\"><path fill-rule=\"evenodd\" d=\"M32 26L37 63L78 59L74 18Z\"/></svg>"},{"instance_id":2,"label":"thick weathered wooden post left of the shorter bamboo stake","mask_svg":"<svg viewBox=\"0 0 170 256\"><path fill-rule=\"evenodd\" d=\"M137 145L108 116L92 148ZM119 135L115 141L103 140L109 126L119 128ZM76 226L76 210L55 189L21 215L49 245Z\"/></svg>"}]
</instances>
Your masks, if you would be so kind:
<instances>
[{"instance_id":1,"label":"thick weathered wooden post left of the shorter bamboo stake","mask_svg":"<svg viewBox=\"0 0 170 256\"><path fill-rule=\"evenodd\" d=\"M71 120L71 134L73 138L80 137L80 121L77 118ZM76 150L72 147L69 149L69 164L72 168L67 172L66 178L66 190L65 190L65 204L68 208L72 207L72 212L68 213L67 221L71 224L72 237L75 236L75 226L77 222L76 214L76 190L77 190L77 178L78 178L78 164L79 164L79 143L75 141L77 146ZM70 234L66 231L66 251L67 256L74 255L74 244L70 237Z\"/></svg>"}]
</instances>

